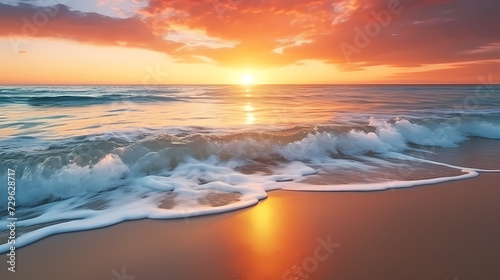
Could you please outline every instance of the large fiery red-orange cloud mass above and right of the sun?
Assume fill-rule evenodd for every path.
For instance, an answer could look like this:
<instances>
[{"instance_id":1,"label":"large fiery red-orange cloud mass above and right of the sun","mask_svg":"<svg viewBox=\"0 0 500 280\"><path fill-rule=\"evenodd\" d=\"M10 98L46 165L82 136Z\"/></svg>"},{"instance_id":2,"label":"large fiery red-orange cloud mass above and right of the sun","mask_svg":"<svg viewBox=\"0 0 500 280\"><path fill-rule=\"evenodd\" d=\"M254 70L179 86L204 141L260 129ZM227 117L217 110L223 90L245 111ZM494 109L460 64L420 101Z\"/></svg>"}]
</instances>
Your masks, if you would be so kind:
<instances>
[{"instance_id":1,"label":"large fiery red-orange cloud mass above and right of the sun","mask_svg":"<svg viewBox=\"0 0 500 280\"><path fill-rule=\"evenodd\" d=\"M221 3L222 8L214 5ZM384 20L391 5L402 10L389 13L390 20L382 26L377 15ZM467 51L498 42L500 22L493 11L499 9L500 2L493 0L151 0L143 13L240 42L232 49L179 52L185 59L203 55L224 66L280 66L317 59L355 70L494 59L498 56L493 52ZM373 36L366 35L366 28L372 28ZM355 44L357 30L368 36L361 47ZM342 44L356 51L346 55Z\"/></svg>"}]
</instances>

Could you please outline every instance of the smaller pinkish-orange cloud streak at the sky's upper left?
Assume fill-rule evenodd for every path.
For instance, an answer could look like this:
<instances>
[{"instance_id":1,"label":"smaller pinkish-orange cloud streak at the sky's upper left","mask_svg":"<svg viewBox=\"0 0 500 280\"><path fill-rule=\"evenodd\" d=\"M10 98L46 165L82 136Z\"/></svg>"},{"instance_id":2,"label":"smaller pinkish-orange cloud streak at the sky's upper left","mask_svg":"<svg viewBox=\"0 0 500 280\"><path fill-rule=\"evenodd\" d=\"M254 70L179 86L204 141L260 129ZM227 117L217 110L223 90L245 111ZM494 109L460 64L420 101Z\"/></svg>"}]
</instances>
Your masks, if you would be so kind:
<instances>
[{"instance_id":1,"label":"smaller pinkish-orange cloud streak at the sky's upper left","mask_svg":"<svg viewBox=\"0 0 500 280\"><path fill-rule=\"evenodd\" d=\"M162 52L182 46L156 36L138 17L112 18L70 10L61 4L37 7L24 3L17 6L0 3L0 36L58 38Z\"/></svg>"}]
</instances>

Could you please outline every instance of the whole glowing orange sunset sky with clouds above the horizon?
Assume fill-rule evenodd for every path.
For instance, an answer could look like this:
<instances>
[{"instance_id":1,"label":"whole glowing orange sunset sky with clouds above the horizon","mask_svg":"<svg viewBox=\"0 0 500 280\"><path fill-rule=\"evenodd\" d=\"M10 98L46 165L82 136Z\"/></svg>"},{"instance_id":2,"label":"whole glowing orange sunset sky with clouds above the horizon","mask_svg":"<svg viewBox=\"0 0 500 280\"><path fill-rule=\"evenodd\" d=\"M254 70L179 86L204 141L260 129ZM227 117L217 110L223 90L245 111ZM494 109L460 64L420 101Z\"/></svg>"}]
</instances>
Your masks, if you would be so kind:
<instances>
[{"instance_id":1,"label":"whole glowing orange sunset sky with clouds above the horizon","mask_svg":"<svg viewBox=\"0 0 500 280\"><path fill-rule=\"evenodd\" d=\"M0 84L500 83L498 0L0 0Z\"/></svg>"}]
</instances>

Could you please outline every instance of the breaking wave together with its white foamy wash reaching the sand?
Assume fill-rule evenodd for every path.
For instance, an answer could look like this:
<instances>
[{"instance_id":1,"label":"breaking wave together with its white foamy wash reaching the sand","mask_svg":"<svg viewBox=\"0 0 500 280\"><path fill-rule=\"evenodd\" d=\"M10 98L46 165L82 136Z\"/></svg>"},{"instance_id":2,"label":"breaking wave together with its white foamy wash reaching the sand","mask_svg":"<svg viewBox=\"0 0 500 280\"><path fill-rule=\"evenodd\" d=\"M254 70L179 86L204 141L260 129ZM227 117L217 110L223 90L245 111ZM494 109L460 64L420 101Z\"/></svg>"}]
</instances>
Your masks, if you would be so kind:
<instances>
[{"instance_id":1,"label":"breaking wave together with its white foamy wash reaching the sand","mask_svg":"<svg viewBox=\"0 0 500 280\"><path fill-rule=\"evenodd\" d=\"M18 238L22 246L124 220L239 209L274 189L370 191L477 176L485 170L426 159L429 147L457 147L471 137L500 139L500 123L371 117L360 125L245 132L141 129L51 142L29 138L17 149L15 140L4 140L0 145L10 148L0 152L0 173L5 181L7 168L15 169L22 184L19 227L39 227Z\"/></svg>"}]
</instances>

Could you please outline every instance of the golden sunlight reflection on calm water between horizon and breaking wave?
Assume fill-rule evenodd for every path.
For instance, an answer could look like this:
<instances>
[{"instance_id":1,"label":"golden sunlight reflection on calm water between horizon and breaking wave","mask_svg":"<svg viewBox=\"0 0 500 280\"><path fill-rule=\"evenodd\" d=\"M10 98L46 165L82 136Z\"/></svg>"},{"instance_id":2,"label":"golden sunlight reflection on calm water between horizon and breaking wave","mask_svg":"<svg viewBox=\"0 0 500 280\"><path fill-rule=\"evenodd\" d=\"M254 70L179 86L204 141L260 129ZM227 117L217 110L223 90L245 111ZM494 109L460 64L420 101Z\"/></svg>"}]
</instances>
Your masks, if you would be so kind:
<instances>
[{"instance_id":1,"label":"golden sunlight reflection on calm water between horizon and breaking wave","mask_svg":"<svg viewBox=\"0 0 500 280\"><path fill-rule=\"evenodd\" d=\"M241 76L241 75L240 75ZM310 98L308 103L290 103L283 106L286 96L276 93L273 86L254 87L231 86L224 92L219 88L206 87L203 91L210 94L222 92L220 102L112 102L88 110L86 106L59 106L57 114L71 117L53 118L54 107L31 106L30 112L18 111L16 107L6 107L2 113L8 114L13 122L22 122L26 118L42 120L44 123L30 129L31 134L44 134L47 137L87 134L100 134L107 131L125 130L133 126L130 120L141 123L144 127L163 128L165 126L260 126L292 125L328 122L337 111L355 111L363 109L338 102L326 102ZM79 87L77 87L79 89ZM191 88L189 88L192 90ZM158 93L155 97L168 96ZM202 92L202 90L200 90ZM223 101L222 101L223 100ZM179 118L179 116L183 116ZM14 128L5 128L5 133L15 135ZM25 130L27 131L27 130Z\"/></svg>"}]
</instances>

